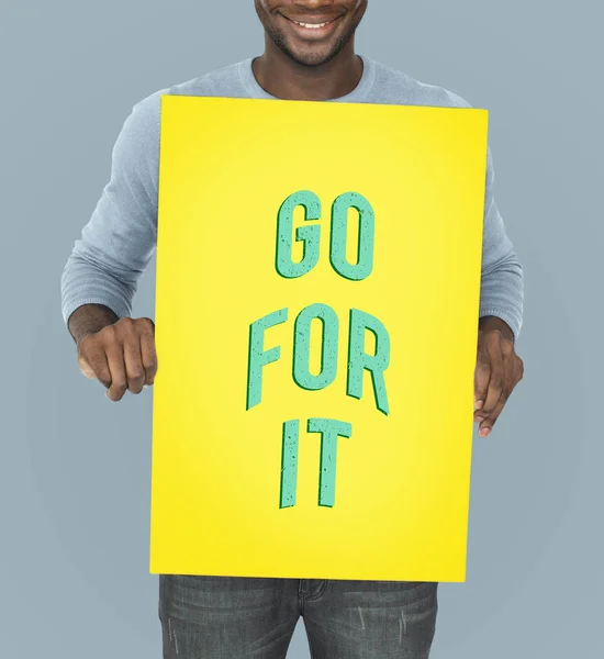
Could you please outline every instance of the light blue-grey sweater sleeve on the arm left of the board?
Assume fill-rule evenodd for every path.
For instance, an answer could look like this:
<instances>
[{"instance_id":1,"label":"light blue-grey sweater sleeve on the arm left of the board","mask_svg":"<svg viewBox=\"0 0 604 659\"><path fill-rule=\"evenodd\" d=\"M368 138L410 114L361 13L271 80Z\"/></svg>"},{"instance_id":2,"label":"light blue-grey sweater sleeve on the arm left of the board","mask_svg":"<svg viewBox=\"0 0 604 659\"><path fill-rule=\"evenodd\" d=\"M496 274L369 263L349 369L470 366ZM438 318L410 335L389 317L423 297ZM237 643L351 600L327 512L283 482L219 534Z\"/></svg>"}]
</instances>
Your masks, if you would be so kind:
<instances>
[{"instance_id":1,"label":"light blue-grey sweater sleeve on the arm left of the board","mask_svg":"<svg viewBox=\"0 0 604 659\"><path fill-rule=\"evenodd\" d=\"M160 92L134 105L112 152L111 177L63 269L67 325L82 304L130 316L137 281L157 244Z\"/></svg>"}]
</instances>

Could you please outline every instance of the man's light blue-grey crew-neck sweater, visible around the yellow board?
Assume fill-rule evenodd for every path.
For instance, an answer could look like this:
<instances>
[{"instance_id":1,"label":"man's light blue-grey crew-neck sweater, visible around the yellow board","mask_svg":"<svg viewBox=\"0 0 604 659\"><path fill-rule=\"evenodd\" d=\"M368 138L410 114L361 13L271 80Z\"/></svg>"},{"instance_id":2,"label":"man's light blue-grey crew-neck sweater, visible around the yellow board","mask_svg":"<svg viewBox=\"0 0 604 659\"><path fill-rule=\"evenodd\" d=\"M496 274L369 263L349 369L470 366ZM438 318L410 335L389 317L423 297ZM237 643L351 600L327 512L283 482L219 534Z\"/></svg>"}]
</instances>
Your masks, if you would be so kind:
<instances>
[{"instance_id":1,"label":"man's light blue-grey crew-neck sweater, visible around the yellow board","mask_svg":"<svg viewBox=\"0 0 604 659\"><path fill-rule=\"evenodd\" d=\"M358 86L327 102L471 107L443 87L425 85L361 57L365 66ZM104 304L119 317L132 313L137 280L157 243L160 96L275 98L256 81L251 62L250 57L159 90L134 105L113 148L110 181L63 271L61 311L66 324L70 314L87 303ZM486 156L479 316L499 316L517 338L523 322L523 268L493 197L490 149Z\"/></svg>"}]
</instances>

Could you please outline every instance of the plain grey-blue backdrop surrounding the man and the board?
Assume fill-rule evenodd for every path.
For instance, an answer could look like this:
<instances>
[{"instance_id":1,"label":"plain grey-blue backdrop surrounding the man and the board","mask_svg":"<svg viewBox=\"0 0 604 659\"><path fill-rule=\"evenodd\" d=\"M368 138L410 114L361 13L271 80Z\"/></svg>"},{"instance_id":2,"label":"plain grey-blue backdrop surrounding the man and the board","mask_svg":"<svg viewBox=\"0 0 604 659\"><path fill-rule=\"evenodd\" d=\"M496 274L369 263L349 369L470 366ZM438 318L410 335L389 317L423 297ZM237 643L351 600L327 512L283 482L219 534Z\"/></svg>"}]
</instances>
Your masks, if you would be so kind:
<instances>
[{"instance_id":1,"label":"plain grey-blue backdrop surrounding the man and the board","mask_svg":"<svg viewBox=\"0 0 604 659\"><path fill-rule=\"evenodd\" d=\"M604 656L602 18L595 0L380 0L359 30L359 52L491 111L526 277L525 379L474 435L468 581L440 587L435 659ZM2 657L160 657L152 391L114 404L80 375L59 278L132 105L261 40L251 0L2 0ZM135 315L154 284L153 264ZM309 657L301 624L289 657Z\"/></svg>"}]
</instances>

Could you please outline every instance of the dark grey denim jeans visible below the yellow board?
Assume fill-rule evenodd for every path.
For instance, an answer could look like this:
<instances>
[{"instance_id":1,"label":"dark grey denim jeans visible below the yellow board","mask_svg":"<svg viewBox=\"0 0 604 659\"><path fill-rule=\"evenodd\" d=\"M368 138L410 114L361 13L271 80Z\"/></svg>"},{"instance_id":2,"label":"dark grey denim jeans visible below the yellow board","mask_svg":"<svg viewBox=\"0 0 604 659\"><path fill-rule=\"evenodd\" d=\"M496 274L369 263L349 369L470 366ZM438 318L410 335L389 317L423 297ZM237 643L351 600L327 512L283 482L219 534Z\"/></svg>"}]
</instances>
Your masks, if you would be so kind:
<instances>
[{"instance_id":1,"label":"dark grey denim jeans visible below the yellow board","mask_svg":"<svg viewBox=\"0 0 604 659\"><path fill-rule=\"evenodd\" d=\"M164 659L428 659L437 583L159 576Z\"/></svg>"}]
</instances>

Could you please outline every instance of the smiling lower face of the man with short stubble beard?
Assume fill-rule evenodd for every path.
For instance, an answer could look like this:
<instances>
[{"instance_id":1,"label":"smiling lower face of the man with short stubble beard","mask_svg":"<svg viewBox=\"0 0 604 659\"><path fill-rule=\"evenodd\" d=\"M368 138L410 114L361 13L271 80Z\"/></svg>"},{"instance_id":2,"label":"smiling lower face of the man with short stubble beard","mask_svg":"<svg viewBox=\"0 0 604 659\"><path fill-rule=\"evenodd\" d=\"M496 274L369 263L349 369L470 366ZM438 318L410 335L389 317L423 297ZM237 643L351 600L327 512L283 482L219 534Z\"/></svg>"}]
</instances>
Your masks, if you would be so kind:
<instances>
[{"instance_id":1,"label":"smiling lower face of the man with short stubble beard","mask_svg":"<svg viewBox=\"0 0 604 659\"><path fill-rule=\"evenodd\" d=\"M299 64L335 57L354 35L368 0L255 0L266 33Z\"/></svg>"}]
</instances>

